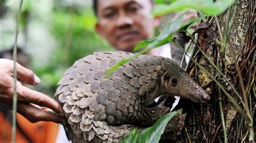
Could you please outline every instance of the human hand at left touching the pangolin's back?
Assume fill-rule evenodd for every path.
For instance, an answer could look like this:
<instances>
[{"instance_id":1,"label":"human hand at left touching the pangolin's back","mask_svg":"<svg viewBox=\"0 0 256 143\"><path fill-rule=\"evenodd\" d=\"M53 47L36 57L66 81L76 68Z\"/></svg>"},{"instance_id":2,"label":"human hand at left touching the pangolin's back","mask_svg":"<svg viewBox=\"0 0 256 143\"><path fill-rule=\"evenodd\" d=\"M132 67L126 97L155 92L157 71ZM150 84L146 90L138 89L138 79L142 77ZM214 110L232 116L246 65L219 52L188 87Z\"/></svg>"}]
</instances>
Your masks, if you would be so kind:
<instances>
[{"instance_id":1,"label":"human hand at left touching the pangolin's back","mask_svg":"<svg viewBox=\"0 0 256 143\"><path fill-rule=\"evenodd\" d=\"M22 83L37 85L40 79L33 71L16 64L17 66L17 112L21 113L32 123L37 121L54 121L66 124L62 107L51 97L41 92L31 90ZM12 96L14 95L14 61L0 59L0 105L12 109ZM56 113L37 108L32 104L50 108Z\"/></svg>"}]
</instances>

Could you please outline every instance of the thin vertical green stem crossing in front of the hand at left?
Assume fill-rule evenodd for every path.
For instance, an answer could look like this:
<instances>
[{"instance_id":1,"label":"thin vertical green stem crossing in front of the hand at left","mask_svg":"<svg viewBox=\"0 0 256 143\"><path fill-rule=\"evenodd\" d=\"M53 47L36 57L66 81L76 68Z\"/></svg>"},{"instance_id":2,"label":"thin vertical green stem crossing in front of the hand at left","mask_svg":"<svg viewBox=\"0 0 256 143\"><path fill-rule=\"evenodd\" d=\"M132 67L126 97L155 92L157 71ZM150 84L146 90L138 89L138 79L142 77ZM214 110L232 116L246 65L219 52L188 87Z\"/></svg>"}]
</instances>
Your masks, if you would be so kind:
<instances>
[{"instance_id":1,"label":"thin vertical green stem crossing in front of the hand at left","mask_svg":"<svg viewBox=\"0 0 256 143\"><path fill-rule=\"evenodd\" d=\"M16 34L15 34L15 43L14 43L14 97L12 100L12 110L13 110L13 118L12 118L12 143L15 142L16 139L16 112L17 112L17 70L16 70L16 61L17 61L17 41L18 41L18 34L19 34L19 18L21 17L21 8L22 8L23 0L19 3L19 10L17 14L17 21L16 21Z\"/></svg>"}]
</instances>

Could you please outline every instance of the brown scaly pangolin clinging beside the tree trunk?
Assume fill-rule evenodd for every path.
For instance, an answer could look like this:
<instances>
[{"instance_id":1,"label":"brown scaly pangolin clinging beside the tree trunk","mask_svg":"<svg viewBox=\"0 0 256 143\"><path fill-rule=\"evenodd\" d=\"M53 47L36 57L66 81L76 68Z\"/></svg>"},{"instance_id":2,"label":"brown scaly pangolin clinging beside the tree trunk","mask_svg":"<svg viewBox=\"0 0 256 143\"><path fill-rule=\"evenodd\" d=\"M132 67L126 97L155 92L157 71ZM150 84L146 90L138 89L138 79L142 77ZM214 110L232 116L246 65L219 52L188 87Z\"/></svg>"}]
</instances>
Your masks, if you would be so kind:
<instances>
[{"instance_id":1,"label":"brown scaly pangolin clinging beside the tree trunk","mask_svg":"<svg viewBox=\"0 0 256 143\"><path fill-rule=\"evenodd\" d=\"M183 69L162 56L140 55L104 78L107 70L133 55L96 52L66 70L55 98L65 111L72 142L122 142L134 126L151 126L170 112L163 104L149 108L160 95L198 103L210 99Z\"/></svg>"}]
</instances>

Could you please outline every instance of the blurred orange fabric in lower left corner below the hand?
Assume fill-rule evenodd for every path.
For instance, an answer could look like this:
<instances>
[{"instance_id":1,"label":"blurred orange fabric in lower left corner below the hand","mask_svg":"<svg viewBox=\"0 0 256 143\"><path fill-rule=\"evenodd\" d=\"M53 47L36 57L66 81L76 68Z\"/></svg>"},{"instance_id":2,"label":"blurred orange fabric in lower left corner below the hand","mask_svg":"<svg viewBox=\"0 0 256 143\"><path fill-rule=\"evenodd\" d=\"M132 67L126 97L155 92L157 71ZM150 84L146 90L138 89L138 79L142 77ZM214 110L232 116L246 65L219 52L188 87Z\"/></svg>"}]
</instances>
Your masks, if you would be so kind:
<instances>
[{"instance_id":1,"label":"blurred orange fabric in lower left corner below the hand","mask_svg":"<svg viewBox=\"0 0 256 143\"><path fill-rule=\"evenodd\" d=\"M33 143L53 143L56 142L58 133L58 124L50 121L39 121L37 123L30 123L29 120L22 115L17 114L17 123L21 126L23 131L29 136ZM0 142L11 142L11 124L0 112ZM16 129L16 142L28 142L26 138Z\"/></svg>"}]
</instances>

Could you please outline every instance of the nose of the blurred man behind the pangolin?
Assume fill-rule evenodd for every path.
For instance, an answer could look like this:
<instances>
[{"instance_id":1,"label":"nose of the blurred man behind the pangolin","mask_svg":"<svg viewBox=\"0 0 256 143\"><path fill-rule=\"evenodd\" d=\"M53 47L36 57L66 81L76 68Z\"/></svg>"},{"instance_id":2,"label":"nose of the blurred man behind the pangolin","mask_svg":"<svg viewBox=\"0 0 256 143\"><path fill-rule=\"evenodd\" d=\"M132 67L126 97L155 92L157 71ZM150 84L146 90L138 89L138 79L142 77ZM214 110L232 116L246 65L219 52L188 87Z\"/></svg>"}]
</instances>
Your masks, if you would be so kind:
<instances>
[{"instance_id":1,"label":"nose of the blurred man behind the pangolin","mask_svg":"<svg viewBox=\"0 0 256 143\"><path fill-rule=\"evenodd\" d=\"M119 28L130 27L133 24L133 19L125 14L120 14L117 20L117 26Z\"/></svg>"}]
</instances>

